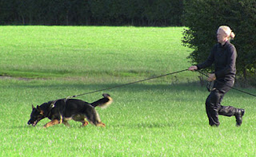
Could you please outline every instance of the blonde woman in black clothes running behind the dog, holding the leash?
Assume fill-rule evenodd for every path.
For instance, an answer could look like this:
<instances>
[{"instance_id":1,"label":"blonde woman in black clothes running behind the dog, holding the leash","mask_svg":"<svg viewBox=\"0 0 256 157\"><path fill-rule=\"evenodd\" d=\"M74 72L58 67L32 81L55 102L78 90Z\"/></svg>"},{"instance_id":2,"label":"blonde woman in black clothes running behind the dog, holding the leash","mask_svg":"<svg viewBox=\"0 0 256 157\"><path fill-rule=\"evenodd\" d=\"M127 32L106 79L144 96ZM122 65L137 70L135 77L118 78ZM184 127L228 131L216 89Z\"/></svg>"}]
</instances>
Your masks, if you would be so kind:
<instances>
[{"instance_id":1,"label":"blonde woman in black clothes running behind the dog, holding the leash","mask_svg":"<svg viewBox=\"0 0 256 157\"><path fill-rule=\"evenodd\" d=\"M206 113L210 126L218 127L220 124L218 115L223 115L235 116L236 125L239 127L242 124L242 116L245 113L242 108L221 105L223 96L234 85L237 52L234 45L230 43L230 39L234 39L234 36L229 26L220 26L217 31L218 44L214 45L210 56L202 64L192 65L188 69L190 71L200 70L214 63L215 72L208 73L208 80L214 81L214 87L206 99Z\"/></svg>"}]
</instances>

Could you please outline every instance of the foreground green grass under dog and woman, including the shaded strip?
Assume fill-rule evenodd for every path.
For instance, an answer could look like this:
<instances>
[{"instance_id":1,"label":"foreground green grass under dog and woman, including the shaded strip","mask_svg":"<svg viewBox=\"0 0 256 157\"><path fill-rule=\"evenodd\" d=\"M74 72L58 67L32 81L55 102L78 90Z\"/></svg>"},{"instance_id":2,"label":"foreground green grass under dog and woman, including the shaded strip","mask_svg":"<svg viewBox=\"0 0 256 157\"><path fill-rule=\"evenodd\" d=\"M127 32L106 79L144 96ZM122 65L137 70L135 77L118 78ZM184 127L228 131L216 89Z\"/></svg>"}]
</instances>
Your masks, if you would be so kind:
<instances>
[{"instance_id":1,"label":"foreground green grass under dog and woman, including the shaded strip","mask_svg":"<svg viewBox=\"0 0 256 157\"><path fill-rule=\"evenodd\" d=\"M114 103L97 108L106 128L80 128L71 121L43 129L49 120L27 126L31 103L114 84L85 84L60 80L1 80L1 156L254 156L255 100L230 91L223 104L246 108L241 128L234 117L220 116L210 128L204 108L205 88L192 84L133 84L110 91ZM255 92L255 90L254 90ZM101 93L79 97L92 102ZM238 104L237 102L241 102ZM226 150L229 151L226 151Z\"/></svg>"}]
</instances>

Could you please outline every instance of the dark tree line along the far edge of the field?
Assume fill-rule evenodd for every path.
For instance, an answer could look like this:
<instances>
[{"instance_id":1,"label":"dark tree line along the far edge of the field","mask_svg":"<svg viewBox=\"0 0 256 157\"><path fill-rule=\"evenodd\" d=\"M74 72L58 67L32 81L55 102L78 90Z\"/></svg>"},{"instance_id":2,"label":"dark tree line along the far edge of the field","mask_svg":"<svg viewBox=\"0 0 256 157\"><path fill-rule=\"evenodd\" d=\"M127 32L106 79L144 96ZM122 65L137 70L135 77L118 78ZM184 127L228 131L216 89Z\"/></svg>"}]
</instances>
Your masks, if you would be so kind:
<instances>
[{"instance_id":1,"label":"dark tree line along the far edge of the field","mask_svg":"<svg viewBox=\"0 0 256 157\"><path fill-rule=\"evenodd\" d=\"M0 25L182 26L182 0L0 0Z\"/></svg>"}]
</instances>

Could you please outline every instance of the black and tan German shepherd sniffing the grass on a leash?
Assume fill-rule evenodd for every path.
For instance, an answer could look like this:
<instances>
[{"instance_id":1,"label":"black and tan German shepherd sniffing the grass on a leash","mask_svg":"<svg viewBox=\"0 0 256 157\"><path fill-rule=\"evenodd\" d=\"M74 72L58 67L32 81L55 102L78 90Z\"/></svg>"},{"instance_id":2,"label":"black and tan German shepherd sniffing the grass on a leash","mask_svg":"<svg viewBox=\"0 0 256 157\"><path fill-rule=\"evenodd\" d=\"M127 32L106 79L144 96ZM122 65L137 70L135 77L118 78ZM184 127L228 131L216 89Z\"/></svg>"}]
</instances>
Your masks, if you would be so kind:
<instances>
[{"instance_id":1,"label":"black and tan German shepherd sniffing the grass on a leash","mask_svg":"<svg viewBox=\"0 0 256 157\"><path fill-rule=\"evenodd\" d=\"M35 126L38 122L44 118L48 118L51 121L44 125L44 128L48 128L55 124L65 124L70 126L68 120L75 120L82 122L82 127L86 126L88 120L90 124L95 126L105 127L98 116L98 112L95 107L107 108L112 103L112 98L109 94L102 94L103 98L89 104L83 100L77 99L60 99L43 103L37 108L34 108L32 104L32 112L30 120L27 124Z\"/></svg>"}]
</instances>

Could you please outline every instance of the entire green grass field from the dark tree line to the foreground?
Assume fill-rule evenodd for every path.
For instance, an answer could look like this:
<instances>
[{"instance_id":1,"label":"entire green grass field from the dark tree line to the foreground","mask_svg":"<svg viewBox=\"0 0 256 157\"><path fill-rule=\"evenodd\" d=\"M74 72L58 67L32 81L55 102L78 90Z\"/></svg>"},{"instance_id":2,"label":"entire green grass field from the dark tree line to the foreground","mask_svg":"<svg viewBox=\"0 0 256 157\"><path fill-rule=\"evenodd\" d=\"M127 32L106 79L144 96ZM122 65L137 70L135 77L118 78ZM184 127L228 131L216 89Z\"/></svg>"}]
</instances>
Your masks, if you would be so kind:
<instances>
[{"instance_id":1,"label":"entire green grass field from the dark tree line to the foreground","mask_svg":"<svg viewBox=\"0 0 256 157\"><path fill-rule=\"evenodd\" d=\"M0 27L1 156L255 156L256 100L231 90L224 105L246 108L242 127L220 116L210 128L209 92L198 73L113 88L114 103L97 108L106 128L71 121L28 126L31 104L186 69L192 51L182 27ZM242 88L255 93L254 88ZM78 99L92 102L96 92Z\"/></svg>"}]
</instances>

